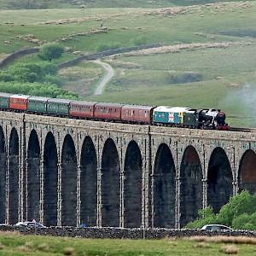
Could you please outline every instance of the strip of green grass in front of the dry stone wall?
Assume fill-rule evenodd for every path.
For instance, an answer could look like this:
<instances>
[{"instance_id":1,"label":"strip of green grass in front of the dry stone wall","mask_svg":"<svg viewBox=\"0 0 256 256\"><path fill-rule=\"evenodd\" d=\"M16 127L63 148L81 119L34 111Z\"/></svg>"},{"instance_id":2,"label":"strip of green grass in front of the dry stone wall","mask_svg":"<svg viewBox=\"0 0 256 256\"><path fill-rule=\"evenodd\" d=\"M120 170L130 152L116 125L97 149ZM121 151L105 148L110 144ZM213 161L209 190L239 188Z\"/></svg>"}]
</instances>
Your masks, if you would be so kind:
<instances>
[{"instance_id":1,"label":"strip of green grass in front of the dry stone wall","mask_svg":"<svg viewBox=\"0 0 256 256\"><path fill-rule=\"evenodd\" d=\"M212 241L213 240L213 241ZM0 233L1 255L81 255L81 256L177 256L177 255L254 255L255 238L238 237L227 242L224 237L192 237L160 240L84 239L51 236L21 236Z\"/></svg>"}]
</instances>

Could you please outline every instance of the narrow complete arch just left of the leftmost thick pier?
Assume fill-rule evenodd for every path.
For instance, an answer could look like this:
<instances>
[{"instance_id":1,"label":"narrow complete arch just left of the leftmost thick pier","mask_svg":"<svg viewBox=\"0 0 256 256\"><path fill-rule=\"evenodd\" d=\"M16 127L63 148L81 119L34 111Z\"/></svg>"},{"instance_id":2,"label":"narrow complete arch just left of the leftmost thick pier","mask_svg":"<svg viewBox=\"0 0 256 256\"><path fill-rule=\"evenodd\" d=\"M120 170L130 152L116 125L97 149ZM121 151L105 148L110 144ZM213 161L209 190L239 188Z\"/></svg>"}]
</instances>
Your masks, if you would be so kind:
<instances>
[{"instance_id":1,"label":"narrow complete arch just left of the leftmost thick pier","mask_svg":"<svg viewBox=\"0 0 256 256\"><path fill-rule=\"evenodd\" d=\"M9 224L19 221L19 137L15 128L9 137Z\"/></svg>"}]
</instances>

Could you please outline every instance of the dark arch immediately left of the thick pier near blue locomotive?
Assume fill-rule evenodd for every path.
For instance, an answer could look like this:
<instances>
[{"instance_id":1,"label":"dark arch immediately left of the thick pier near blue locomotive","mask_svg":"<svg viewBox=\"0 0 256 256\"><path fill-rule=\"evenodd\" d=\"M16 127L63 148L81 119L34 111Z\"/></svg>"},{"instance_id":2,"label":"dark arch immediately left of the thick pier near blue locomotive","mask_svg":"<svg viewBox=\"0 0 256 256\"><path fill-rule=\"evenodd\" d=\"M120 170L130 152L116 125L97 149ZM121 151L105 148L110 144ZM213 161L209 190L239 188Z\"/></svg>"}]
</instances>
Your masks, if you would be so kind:
<instances>
[{"instance_id":1,"label":"dark arch immediately left of the thick pier near blue locomotive","mask_svg":"<svg viewBox=\"0 0 256 256\"><path fill-rule=\"evenodd\" d=\"M126 228L142 224L142 173L143 159L140 148L132 140L125 154L124 224Z\"/></svg>"}]
</instances>

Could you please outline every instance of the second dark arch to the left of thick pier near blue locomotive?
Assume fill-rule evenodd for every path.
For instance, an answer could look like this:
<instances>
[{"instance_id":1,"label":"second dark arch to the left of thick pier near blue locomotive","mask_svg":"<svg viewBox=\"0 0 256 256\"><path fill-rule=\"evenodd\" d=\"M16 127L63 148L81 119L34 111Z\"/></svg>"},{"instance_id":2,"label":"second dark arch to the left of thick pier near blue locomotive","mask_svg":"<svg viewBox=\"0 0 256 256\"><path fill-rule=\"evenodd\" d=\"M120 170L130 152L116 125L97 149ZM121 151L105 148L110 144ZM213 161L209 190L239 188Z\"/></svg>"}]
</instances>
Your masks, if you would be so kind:
<instances>
[{"instance_id":1,"label":"second dark arch to the left of thick pier near blue locomotive","mask_svg":"<svg viewBox=\"0 0 256 256\"><path fill-rule=\"evenodd\" d=\"M112 138L102 151L102 226L119 226L119 154Z\"/></svg>"}]
</instances>

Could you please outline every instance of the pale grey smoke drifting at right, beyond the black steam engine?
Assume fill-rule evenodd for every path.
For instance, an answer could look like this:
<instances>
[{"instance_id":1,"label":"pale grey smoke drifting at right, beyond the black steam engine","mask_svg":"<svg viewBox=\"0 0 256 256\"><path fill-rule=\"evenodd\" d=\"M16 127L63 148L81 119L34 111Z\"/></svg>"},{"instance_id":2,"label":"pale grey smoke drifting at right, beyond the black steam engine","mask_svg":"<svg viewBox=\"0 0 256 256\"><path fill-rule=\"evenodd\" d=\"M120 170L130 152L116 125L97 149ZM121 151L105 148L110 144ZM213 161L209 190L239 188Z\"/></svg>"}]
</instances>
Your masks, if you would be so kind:
<instances>
[{"instance_id":1,"label":"pale grey smoke drifting at right, beyond the black steam engine","mask_svg":"<svg viewBox=\"0 0 256 256\"><path fill-rule=\"evenodd\" d=\"M241 127L256 127L256 84L247 83L231 91L220 105L224 112L229 113L227 118L229 115L236 118Z\"/></svg>"}]
</instances>

